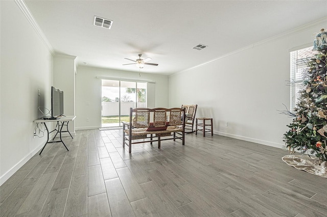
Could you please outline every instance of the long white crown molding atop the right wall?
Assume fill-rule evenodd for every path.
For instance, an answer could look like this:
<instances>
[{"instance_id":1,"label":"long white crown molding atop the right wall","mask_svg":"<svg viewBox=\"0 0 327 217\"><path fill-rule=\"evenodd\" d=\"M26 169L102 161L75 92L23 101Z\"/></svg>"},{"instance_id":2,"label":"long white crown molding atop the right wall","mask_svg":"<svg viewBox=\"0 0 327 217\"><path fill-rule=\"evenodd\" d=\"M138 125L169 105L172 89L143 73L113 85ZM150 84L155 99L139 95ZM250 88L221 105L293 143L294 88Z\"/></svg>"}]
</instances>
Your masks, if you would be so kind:
<instances>
[{"instance_id":1,"label":"long white crown molding atop the right wall","mask_svg":"<svg viewBox=\"0 0 327 217\"><path fill-rule=\"evenodd\" d=\"M254 46L258 46L258 45L265 44L265 43L270 42L270 41L274 41L274 40L278 40L278 39L281 39L281 38L285 38L285 37L289 37L289 36L292 36L292 35L298 34L298 33L300 33L300 32L303 32L303 31L309 30L309 29L311 29L311 28L314 28L315 26L318 26L318 25L321 25L321 26L323 26L323 25L327 25L327 16L322 17L322 18L320 18L320 19L318 19L318 20L315 20L315 21L313 21L313 22L309 22L309 23L307 23L307 24L301 25L300 27L295 28L295 29L290 30L290 31L287 31L287 32L285 32L285 33L282 33L282 34L279 34L279 35L276 35L276 36L273 36L273 37L270 37L270 38L264 39L264 40L262 40L262 41L259 41L259 42L256 42L256 43L253 43L253 44L251 44L251 45L248 45L248 46L242 47L242 48L237 49L237 50L234 50L234 51L231 51L231 52L226 53L225 55L222 55L222 56L220 56L220 57L218 57L218 58L216 58L216 59L213 59L213 60L211 60L211 61L208 61L208 62L205 62L205 63L199 64L199 65L197 65L197 66L194 66L194 67L191 67L191 68L188 68L188 69L184 69L184 70L179 71L179 72L177 72L177 73L173 73L173 74L169 75L169 77L172 77L172 76L174 76L174 75L177 75L177 74L180 74L180 73L184 73L184 72L186 72L186 71L190 71L190 70L192 70L192 69L196 69L196 68L199 68L199 67L201 67L201 66L204 66L204 65L210 64L210 63L212 63L212 62L215 62L215 61L218 61L218 60L224 59L224 58L229 57L229 56L231 56L231 55L234 55L234 54L236 54L236 53L238 53L238 52L242 52L242 51L244 51L244 50L251 49L251 48L253 48ZM320 29L319 29L319 31L320 31Z\"/></svg>"}]
</instances>

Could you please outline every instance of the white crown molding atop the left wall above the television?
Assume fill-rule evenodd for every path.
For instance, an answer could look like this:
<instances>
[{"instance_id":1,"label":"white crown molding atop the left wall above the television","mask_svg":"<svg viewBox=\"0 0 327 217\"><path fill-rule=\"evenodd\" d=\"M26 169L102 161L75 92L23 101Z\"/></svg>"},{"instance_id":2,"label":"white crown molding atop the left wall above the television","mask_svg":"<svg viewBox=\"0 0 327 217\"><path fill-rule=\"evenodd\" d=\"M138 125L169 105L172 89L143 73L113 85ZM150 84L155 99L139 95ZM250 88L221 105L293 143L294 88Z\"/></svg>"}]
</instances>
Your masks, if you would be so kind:
<instances>
[{"instance_id":1,"label":"white crown molding atop the left wall above the television","mask_svg":"<svg viewBox=\"0 0 327 217\"><path fill-rule=\"evenodd\" d=\"M37 24L36 20L34 19L32 13L30 12L30 10L27 7L27 5L25 4L24 0L14 0L14 2L16 3L16 5L20 9L20 11L25 15L25 17L27 18L27 20L30 22L30 24L32 25L33 29L37 33L37 35L40 37L40 39L42 40L42 42L45 44L45 46L51 52L52 56L54 56L55 51L54 51L53 47L51 46L51 44L48 41L48 39L46 39L44 33L40 29L40 26Z\"/></svg>"}]
</instances>

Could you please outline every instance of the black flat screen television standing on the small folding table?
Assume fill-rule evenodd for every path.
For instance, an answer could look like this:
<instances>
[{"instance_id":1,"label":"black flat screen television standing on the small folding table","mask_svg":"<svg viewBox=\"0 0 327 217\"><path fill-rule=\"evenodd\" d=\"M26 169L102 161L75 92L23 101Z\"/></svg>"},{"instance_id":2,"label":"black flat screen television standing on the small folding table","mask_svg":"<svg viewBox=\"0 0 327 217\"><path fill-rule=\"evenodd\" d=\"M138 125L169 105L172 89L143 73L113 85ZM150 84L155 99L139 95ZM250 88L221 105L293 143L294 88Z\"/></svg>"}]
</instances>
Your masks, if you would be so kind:
<instances>
[{"instance_id":1,"label":"black flat screen television standing on the small folding table","mask_svg":"<svg viewBox=\"0 0 327 217\"><path fill-rule=\"evenodd\" d=\"M50 119L59 119L61 115L63 115L63 91L52 87Z\"/></svg>"}]
</instances>

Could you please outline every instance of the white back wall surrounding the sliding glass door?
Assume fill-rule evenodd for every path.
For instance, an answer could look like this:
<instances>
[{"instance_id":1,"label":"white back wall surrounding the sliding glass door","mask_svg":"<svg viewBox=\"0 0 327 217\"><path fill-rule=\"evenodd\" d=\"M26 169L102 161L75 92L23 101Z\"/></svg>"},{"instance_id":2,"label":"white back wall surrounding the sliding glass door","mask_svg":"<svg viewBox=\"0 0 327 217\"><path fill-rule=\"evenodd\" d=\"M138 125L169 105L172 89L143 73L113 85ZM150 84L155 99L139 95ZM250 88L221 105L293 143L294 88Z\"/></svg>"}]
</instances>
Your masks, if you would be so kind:
<instances>
[{"instance_id":1,"label":"white back wall surrounding the sliding glass door","mask_svg":"<svg viewBox=\"0 0 327 217\"><path fill-rule=\"evenodd\" d=\"M137 72L79 66L76 74L76 129L101 127L101 78L97 76L154 81L155 107L168 107L168 76L141 73L140 77Z\"/></svg>"}]
</instances>

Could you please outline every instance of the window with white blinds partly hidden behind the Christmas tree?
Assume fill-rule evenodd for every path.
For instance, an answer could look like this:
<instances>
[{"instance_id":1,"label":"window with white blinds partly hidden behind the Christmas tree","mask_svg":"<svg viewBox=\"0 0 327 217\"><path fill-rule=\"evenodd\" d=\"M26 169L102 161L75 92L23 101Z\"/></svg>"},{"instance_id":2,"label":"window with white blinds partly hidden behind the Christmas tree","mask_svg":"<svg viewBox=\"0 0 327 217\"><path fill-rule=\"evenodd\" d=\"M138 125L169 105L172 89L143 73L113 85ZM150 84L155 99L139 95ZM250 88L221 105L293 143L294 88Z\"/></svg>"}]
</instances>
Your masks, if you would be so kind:
<instances>
[{"instance_id":1,"label":"window with white blinds partly hidden behind the Christmas tree","mask_svg":"<svg viewBox=\"0 0 327 217\"><path fill-rule=\"evenodd\" d=\"M308 71L308 61L314 57L317 53L316 50L312 50L313 46L306 47L303 49L298 49L290 52L290 60L291 60L291 104L290 111L292 112L298 99L299 99L299 91L306 88L306 85L303 83L308 79L306 77L306 72Z\"/></svg>"}]
</instances>

